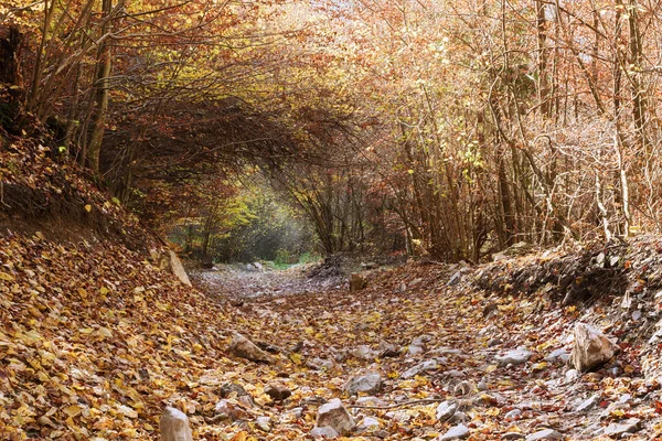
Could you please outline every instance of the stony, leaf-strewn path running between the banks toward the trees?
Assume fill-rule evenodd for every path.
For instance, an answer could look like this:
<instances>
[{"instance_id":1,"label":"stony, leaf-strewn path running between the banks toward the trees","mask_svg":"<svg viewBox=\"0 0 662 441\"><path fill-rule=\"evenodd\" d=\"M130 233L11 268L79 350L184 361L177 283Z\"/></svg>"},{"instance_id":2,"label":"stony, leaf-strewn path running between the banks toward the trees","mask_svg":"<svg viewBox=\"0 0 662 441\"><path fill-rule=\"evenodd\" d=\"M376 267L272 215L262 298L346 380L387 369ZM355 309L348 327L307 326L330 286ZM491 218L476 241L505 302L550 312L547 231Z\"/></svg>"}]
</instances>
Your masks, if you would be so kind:
<instances>
[{"instance_id":1,"label":"stony, leaf-strewn path running between the banks toward the trees","mask_svg":"<svg viewBox=\"0 0 662 441\"><path fill-rule=\"evenodd\" d=\"M237 331L290 366L239 377L274 376L292 391L266 439L308 435L332 398L363 439L653 439L658 386L632 373L627 354L597 373L569 369L574 315L540 299L448 287L448 272L434 268L377 273L352 293L337 280L316 290L300 271L204 279L241 293ZM369 386L357 398L348 388L361 378Z\"/></svg>"}]
</instances>

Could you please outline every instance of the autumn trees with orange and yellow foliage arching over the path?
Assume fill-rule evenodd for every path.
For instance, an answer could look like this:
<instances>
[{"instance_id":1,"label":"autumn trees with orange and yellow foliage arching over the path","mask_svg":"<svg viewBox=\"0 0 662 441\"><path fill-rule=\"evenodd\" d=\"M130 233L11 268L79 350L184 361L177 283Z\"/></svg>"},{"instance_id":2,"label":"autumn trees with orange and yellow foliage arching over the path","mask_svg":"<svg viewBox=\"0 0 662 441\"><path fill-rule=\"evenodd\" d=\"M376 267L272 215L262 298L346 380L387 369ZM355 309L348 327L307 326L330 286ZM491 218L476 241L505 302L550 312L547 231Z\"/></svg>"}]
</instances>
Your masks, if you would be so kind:
<instances>
[{"instance_id":1,"label":"autumn trees with orange and yellow foliage arching over the path","mask_svg":"<svg viewBox=\"0 0 662 441\"><path fill-rule=\"evenodd\" d=\"M201 258L660 229L660 4L9 0L0 121ZM214 255L214 256L211 256Z\"/></svg>"}]
</instances>

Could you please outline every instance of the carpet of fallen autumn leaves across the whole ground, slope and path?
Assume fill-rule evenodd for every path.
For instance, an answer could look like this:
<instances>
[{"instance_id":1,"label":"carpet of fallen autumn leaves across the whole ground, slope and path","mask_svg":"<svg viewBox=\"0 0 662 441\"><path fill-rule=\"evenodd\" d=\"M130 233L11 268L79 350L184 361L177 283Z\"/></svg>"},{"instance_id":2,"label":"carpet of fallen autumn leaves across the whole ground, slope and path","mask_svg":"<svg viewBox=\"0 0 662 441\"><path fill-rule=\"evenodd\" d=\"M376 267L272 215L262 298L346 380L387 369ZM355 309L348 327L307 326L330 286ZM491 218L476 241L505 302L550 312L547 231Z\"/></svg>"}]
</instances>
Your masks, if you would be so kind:
<instances>
[{"instance_id":1,"label":"carpet of fallen autumn leaves across the whole ground, slope and path","mask_svg":"<svg viewBox=\"0 0 662 441\"><path fill-rule=\"evenodd\" d=\"M632 275L658 252L655 245L636 247L650 254L629 263ZM309 283L301 276L267 272L257 276L260 283L289 284L233 306L183 287L120 245L7 234L0 244L0 434L159 439L169 405L188 413L200 440L307 439L319 406L338 397L359 423L355 439L436 439L460 423L473 440L543 429L565 439L610 439L609 427L634 418L630 439L654 438L662 410L658 355L633 336L656 321L654 290L631 286L634 308L621 308L622 293L616 306L604 300L558 306L544 287L509 292L513 269L559 258L375 270L369 287L352 293L345 287L298 291L292 283ZM212 277L237 288L245 280ZM480 289L485 277L501 277L503 286ZM617 336L622 349L594 373L569 372L563 351L551 357L569 352L579 320ZM271 352L274 363L232 355L234 332ZM531 354L521 364L499 362L516 348ZM372 398L350 396L348 381L365 373L378 374L380 387ZM291 395L274 400L273 386ZM458 405L449 421L438 418L445 401Z\"/></svg>"}]
</instances>

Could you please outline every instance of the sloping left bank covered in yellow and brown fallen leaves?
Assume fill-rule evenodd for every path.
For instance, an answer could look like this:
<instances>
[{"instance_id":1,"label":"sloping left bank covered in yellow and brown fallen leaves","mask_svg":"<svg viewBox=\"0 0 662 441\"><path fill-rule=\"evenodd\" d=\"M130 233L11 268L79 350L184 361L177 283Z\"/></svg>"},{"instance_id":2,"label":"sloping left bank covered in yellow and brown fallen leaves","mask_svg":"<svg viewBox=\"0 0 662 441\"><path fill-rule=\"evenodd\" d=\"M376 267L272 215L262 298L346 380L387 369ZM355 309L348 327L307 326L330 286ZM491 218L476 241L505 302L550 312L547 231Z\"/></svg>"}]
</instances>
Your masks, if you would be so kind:
<instances>
[{"instance_id":1,"label":"sloping left bank covered in yellow and brown fallen leaves","mask_svg":"<svg viewBox=\"0 0 662 441\"><path fill-rule=\"evenodd\" d=\"M4 439L156 438L218 366L224 312L122 246L12 236L0 263Z\"/></svg>"}]
</instances>

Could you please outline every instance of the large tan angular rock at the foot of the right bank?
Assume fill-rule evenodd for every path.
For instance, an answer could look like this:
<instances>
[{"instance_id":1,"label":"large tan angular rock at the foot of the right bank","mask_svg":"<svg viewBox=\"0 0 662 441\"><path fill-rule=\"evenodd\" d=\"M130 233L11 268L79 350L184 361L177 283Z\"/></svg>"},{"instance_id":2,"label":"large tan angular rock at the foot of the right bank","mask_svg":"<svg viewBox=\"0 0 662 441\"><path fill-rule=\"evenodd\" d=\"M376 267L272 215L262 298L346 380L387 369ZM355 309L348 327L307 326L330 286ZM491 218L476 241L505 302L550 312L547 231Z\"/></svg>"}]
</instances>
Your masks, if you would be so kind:
<instances>
[{"instance_id":1,"label":"large tan angular rock at the foot of the right bank","mask_svg":"<svg viewBox=\"0 0 662 441\"><path fill-rule=\"evenodd\" d=\"M579 372L585 372L607 363L619 352L600 331L585 323L575 326L575 347L570 353L570 362Z\"/></svg>"}]
</instances>

